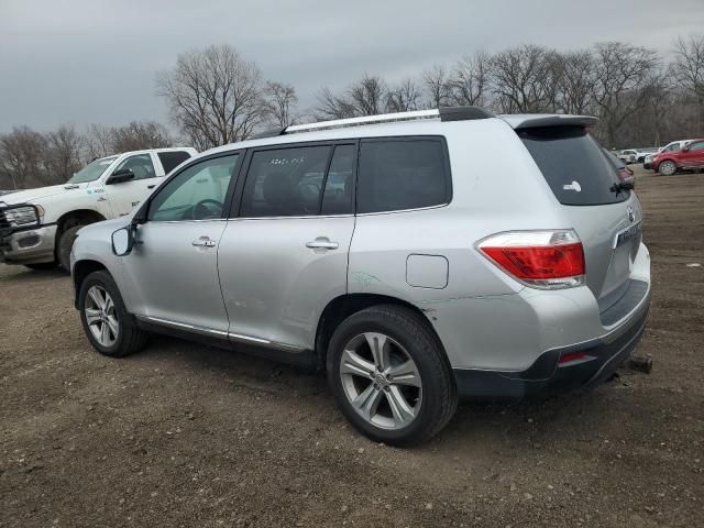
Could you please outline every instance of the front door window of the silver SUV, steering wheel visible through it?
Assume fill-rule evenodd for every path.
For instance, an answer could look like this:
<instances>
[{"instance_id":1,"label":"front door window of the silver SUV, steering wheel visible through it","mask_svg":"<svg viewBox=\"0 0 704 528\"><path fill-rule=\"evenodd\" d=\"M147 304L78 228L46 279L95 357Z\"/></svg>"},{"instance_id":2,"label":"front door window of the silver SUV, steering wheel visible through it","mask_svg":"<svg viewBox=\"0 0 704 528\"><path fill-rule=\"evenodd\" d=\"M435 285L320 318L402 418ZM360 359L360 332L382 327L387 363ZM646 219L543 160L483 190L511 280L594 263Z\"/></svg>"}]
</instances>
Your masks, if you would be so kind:
<instances>
[{"instance_id":1,"label":"front door window of the silver SUV, steering wheel visible through it","mask_svg":"<svg viewBox=\"0 0 704 528\"><path fill-rule=\"evenodd\" d=\"M239 154L196 163L158 190L147 213L150 221L212 220L222 218L228 187Z\"/></svg>"}]
</instances>

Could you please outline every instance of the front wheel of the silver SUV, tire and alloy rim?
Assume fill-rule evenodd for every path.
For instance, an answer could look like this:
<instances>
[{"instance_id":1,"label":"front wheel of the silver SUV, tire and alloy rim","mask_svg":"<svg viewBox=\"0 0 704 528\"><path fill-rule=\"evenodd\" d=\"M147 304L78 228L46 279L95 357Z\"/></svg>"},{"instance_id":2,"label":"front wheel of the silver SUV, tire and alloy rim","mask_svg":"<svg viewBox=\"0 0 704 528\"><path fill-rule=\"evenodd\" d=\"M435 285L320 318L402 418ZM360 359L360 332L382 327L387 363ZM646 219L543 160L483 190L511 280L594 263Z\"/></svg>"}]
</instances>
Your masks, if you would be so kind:
<instances>
[{"instance_id":1,"label":"front wheel of the silver SUV, tire and alloy rim","mask_svg":"<svg viewBox=\"0 0 704 528\"><path fill-rule=\"evenodd\" d=\"M94 272L84 279L78 309L90 344L101 354L123 358L144 346L146 332L135 324L108 272Z\"/></svg>"}]
</instances>

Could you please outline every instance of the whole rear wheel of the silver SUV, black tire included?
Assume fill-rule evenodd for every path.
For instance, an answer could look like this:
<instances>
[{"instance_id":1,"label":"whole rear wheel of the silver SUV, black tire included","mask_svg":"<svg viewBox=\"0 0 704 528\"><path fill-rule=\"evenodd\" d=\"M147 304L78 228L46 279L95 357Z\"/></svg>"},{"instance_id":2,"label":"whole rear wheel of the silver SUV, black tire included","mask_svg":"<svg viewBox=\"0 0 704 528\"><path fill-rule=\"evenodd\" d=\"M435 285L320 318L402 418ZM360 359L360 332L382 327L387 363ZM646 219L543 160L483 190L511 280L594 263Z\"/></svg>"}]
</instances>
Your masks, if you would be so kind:
<instances>
[{"instance_id":1,"label":"whole rear wheel of the silver SUV, black tire included","mask_svg":"<svg viewBox=\"0 0 704 528\"><path fill-rule=\"evenodd\" d=\"M328 348L328 380L342 414L374 441L430 439L454 415L450 365L425 318L381 305L348 317Z\"/></svg>"}]
</instances>

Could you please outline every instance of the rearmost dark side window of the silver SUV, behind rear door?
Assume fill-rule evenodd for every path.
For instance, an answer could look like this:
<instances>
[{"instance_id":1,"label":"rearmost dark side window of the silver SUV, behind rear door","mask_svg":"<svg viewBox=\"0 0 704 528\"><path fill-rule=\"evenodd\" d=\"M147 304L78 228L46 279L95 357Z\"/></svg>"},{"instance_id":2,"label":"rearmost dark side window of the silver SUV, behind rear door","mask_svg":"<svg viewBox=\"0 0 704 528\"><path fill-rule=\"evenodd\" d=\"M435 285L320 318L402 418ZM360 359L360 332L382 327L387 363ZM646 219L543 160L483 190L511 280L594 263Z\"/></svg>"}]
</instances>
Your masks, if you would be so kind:
<instances>
[{"instance_id":1,"label":"rearmost dark side window of the silver SUV, behind rear door","mask_svg":"<svg viewBox=\"0 0 704 528\"><path fill-rule=\"evenodd\" d=\"M440 206L451 198L440 139L363 141L358 178L361 213Z\"/></svg>"}]
</instances>

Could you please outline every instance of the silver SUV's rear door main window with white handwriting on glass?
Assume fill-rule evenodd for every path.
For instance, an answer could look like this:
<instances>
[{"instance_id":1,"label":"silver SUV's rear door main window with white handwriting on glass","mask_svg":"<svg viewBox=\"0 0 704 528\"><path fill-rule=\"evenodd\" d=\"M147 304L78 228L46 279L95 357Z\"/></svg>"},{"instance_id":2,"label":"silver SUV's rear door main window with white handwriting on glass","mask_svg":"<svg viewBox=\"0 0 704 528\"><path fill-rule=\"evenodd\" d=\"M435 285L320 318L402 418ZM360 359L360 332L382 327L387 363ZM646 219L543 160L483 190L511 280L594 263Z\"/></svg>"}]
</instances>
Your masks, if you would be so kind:
<instances>
[{"instance_id":1,"label":"silver SUV's rear door main window with white handwriting on glass","mask_svg":"<svg viewBox=\"0 0 704 528\"><path fill-rule=\"evenodd\" d=\"M255 152L244 185L240 216L318 215L330 148L298 146Z\"/></svg>"}]
</instances>

